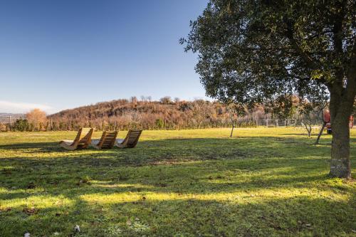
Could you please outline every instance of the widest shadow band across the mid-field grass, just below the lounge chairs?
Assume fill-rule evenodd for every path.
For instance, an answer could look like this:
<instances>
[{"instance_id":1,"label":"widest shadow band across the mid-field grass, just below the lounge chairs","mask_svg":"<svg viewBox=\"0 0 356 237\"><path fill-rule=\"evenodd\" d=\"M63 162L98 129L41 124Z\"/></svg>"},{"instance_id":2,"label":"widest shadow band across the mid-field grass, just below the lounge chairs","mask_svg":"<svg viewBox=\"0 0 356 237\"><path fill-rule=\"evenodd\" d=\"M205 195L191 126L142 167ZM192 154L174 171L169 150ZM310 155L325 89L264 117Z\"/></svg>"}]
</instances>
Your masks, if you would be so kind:
<instances>
[{"instance_id":1,"label":"widest shadow band across the mid-field grass, just below the lounge chairs","mask_svg":"<svg viewBox=\"0 0 356 237\"><path fill-rule=\"evenodd\" d=\"M16 150L16 156L1 159L1 165L6 168L0 170L0 177L4 177L0 185L6 189L27 189L34 182L43 189L56 189L56 185L69 182L69 189L73 189L75 182L85 176L99 181L135 180L137 167L142 167L142 184L168 186L177 176L192 179L188 182L189 189L180 188L185 192L194 185L204 186L199 192L231 191L240 186L257 189L295 186L328 178L325 176L329 162L327 147L293 139L302 142L295 146L286 142L289 139L271 142L272 138L163 139L142 141L135 149L72 152L62 149L57 142L0 145L0 151ZM19 156L19 152L25 157ZM170 167L176 174L172 174ZM239 175L248 179L229 180ZM217 180L215 184L213 179ZM13 195L21 196L0 194L0 197L6 199Z\"/></svg>"}]
</instances>

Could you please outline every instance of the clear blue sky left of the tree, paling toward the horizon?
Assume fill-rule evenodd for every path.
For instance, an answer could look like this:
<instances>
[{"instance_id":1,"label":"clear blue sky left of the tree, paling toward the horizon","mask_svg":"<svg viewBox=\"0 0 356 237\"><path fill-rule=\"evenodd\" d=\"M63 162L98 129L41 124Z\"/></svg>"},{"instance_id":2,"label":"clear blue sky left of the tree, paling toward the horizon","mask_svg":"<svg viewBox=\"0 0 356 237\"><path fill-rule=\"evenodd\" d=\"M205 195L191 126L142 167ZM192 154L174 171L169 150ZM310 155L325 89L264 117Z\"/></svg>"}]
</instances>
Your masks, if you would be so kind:
<instances>
[{"instance_id":1,"label":"clear blue sky left of the tree, paling toward the horizon","mask_svg":"<svg viewBox=\"0 0 356 237\"><path fill-rule=\"evenodd\" d=\"M132 95L204 98L197 55L178 40L206 3L1 1L0 112L56 112Z\"/></svg>"}]
</instances>

